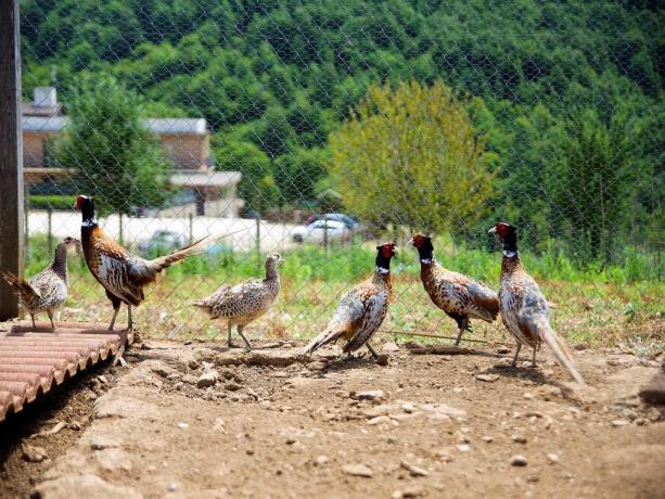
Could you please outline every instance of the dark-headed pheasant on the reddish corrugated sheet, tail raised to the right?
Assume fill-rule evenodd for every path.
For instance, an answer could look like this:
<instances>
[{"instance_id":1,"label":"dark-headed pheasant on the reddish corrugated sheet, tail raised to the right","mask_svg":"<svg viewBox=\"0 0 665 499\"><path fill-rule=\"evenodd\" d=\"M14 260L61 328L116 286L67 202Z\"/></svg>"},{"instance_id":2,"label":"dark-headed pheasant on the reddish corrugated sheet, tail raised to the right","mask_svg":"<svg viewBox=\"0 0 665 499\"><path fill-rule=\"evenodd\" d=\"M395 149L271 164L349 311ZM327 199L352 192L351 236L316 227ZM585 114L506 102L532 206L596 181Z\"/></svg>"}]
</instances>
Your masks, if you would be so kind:
<instances>
[{"instance_id":1,"label":"dark-headed pheasant on the reddish corrugated sheet, tail raised to the right","mask_svg":"<svg viewBox=\"0 0 665 499\"><path fill-rule=\"evenodd\" d=\"M162 270L197 253L203 240L169 255L145 260L129 253L97 225L94 202L91 197L79 195L74 207L80 209L82 215L81 245L88 268L94 279L104 286L106 296L113 304L108 329L113 329L123 303L127 305L127 329L131 329L131 307L145 299L143 286L154 282Z\"/></svg>"}]
</instances>

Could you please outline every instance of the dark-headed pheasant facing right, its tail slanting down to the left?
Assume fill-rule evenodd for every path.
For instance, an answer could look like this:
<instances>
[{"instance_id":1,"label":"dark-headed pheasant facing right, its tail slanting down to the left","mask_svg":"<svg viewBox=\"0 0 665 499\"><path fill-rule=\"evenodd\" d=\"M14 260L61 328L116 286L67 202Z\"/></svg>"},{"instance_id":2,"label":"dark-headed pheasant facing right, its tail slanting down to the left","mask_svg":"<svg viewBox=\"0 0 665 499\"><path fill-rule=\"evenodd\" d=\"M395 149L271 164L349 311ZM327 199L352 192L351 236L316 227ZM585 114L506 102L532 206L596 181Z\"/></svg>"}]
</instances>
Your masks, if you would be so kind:
<instances>
[{"instance_id":1,"label":"dark-headed pheasant facing right, its tail slanting down to the left","mask_svg":"<svg viewBox=\"0 0 665 499\"><path fill-rule=\"evenodd\" d=\"M396 254L395 243L376 246L376 251L374 274L342 296L325 331L305 347L305 354L311 354L327 343L344 338L344 353L350 354L367 345L372 356L379 359L379 355L368 342L388 311L392 295L391 258Z\"/></svg>"}]
</instances>

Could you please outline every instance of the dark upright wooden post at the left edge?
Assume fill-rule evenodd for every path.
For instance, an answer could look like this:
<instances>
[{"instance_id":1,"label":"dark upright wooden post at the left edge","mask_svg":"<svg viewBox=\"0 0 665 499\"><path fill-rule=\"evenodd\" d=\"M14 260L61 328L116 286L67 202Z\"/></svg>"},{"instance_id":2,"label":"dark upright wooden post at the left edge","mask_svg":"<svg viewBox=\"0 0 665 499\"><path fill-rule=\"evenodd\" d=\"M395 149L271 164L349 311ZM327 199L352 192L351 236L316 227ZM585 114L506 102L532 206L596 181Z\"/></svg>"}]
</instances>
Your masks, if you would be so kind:
<instances>
[{"instance_id":1,"label":"dark upright wooden post at the left edge","mask_svg":"<svg viewBox=\"0 0 665 499\"><path fill-rule=\"evenodd\" d=\"M23 276L24 206L18 0L0 0L0 270ZM18 315L0 283L0 320Z\"/></svg>"}]
</instances>

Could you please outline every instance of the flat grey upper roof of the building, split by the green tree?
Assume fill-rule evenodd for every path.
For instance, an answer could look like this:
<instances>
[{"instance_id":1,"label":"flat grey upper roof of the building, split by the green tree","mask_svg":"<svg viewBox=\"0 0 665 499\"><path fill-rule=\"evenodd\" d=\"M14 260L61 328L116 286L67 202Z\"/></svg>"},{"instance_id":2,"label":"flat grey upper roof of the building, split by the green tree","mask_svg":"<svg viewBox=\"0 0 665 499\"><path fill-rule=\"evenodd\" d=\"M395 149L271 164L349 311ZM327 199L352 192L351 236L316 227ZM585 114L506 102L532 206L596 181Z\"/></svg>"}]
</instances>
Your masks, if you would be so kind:
<instances>
[{"instance_id":1,"label":"flat grey upper roof of the building, split by the green tree","mask_svg":"<svg viewBox=\"0 0 665 499\"><path fill-rule=\"evenodd\" d=\"M23 131L60 132L67 126L64 116L23 116ZM158 136L205 136L208 133L204 118L148 118L146 128Z\"/></svg>"}]
</instances>

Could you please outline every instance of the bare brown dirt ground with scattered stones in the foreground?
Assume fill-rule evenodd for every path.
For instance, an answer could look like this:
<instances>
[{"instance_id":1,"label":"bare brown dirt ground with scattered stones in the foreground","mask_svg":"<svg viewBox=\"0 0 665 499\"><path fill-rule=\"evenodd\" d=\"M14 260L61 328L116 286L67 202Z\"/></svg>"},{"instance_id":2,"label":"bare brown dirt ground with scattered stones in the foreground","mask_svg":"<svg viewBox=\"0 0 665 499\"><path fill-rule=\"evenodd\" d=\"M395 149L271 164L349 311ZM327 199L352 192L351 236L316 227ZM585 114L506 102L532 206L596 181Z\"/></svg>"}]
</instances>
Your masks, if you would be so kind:
<instances>
[{"instance_id":1,"label":"bare brown dirt ground with scattered stones in the foreground","mask_svg":"<svg viewBox=\"0 0 665 499\"><path fill-rule=\"evenodd\" d=\"M0 424L0 497L665 496L665 407L637 395L663 357L575 351L578 389L546 351L259 346L148 342L52 391Z\"/></svg>"}]
</instances>

